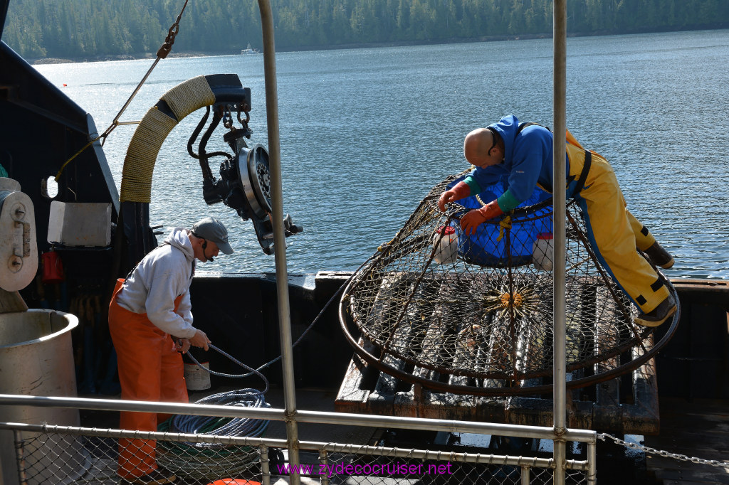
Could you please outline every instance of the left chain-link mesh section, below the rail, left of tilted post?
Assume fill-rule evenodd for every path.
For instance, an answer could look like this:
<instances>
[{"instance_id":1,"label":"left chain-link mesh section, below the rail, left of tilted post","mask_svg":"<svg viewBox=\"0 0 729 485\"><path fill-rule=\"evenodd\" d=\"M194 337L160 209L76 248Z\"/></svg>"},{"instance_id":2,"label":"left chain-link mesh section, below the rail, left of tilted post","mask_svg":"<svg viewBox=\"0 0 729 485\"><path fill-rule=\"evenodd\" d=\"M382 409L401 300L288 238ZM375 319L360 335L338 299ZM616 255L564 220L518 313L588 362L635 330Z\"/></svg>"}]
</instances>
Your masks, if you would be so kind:
<instances>
[{"instance_id":1,"label":"left chain-link mesh section, below the rail, left of tilted post","mask_svg":"<svg viewBox=\"0 0 729 485\"><path fill-rule=\"evenodd\" d=\"M144 433L84 427L39 426L15 430L15 453L22 485L127 484L157 467L157 482L212 484L225 478L262 482L268 447L260 440L220 435ZM118 465L120 443L133 457ZM138 459L138 460L135 460ZM156 465L155 465L156 464ZM120 473L124 474L122 478ZM218 484L216 484L218 485Z\"/></svg>"}]
</instances>

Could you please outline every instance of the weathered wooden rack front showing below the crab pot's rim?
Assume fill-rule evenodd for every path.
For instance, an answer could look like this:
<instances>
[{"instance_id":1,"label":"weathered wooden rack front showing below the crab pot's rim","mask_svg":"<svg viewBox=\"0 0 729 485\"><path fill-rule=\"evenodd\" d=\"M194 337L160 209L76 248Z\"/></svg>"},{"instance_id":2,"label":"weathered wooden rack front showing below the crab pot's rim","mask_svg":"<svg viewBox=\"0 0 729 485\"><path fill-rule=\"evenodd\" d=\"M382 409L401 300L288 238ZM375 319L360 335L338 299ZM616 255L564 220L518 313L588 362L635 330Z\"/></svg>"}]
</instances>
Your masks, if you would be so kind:
<instances>
[{"instance_id":1,"label":"weathered wooden rack front showing below the crab pot's rim","mask_svg":"<svg viewBox=\"0 0 729 485\"><path fill-rule=\"evenodd\" d=\"M364 343L360 341L359 344ZM634 351L634 358L637 353ZM402 361L391 356L386 359L390 366L400 371L433 377L432 371L418 367L408 370ZM615 361L600 364L601 370L616 365ZM570 378L568 374L568 380ZM451 384L459 384L453 379L465 378L450 376L449 379ZM632 385L626 386L625 382ZM539 384L541 382L526 383ZM486 379L483 385L499 386L499 382ZM621 397L621 390L624 392L626 387L630 389L630 395ZM594 396L593 401L586 401L585 395ZM356 355L349 363L335 400L335 410L339 412L547 427L553 425L552 409L550 396L479 397L434 392L368 366ZM631 374L594 385L592 389L568 392L567 426L621 434L657 434L659 414L654 360L648 360Z\"/></svg>"}]
</instances>

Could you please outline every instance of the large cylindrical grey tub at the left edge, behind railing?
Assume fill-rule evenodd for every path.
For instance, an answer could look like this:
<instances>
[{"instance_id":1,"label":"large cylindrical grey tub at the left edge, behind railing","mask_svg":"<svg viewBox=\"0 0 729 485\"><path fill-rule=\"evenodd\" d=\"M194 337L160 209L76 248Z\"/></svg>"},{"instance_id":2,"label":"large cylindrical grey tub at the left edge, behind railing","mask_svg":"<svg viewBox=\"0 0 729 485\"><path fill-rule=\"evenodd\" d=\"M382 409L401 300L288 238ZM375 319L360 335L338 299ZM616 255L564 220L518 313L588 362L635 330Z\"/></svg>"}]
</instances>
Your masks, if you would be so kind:
<instances>
[{"instance_id":1,"label":"large cylindrical grey tub at the left edge, behind railing","mask_svg":"<svg viewBox=\"0 0 729 485\"><path fill-rule=\"evenodd\" d=\"M76 397L71 330L78 318L70 313L47 309L0 314L0 394ZM79 411L37 406L3 406L1 420L28 424L79 425ZM74 471L86 460L82 446L69 435L22 433L32 456L24 462L27 484L53 483L61 476L77 476ZM0 431L1 483L18 484L12 431ZM29 453L28 453L29 455Z\"/></svg>"}]
</instances>

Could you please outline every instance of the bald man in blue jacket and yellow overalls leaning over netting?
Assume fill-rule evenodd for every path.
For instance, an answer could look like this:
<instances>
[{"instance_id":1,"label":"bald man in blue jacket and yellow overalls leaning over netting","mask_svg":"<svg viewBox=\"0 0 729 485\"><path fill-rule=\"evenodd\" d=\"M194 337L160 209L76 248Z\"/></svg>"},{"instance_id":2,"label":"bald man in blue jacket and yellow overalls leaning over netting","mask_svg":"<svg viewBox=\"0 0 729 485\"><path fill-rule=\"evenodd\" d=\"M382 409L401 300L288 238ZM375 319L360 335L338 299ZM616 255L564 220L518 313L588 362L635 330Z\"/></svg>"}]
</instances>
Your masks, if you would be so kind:
<instances>
[{"instance_id":1,"label":"bald man in blue jacket and yellow overalls leaning over netting","mask_svg":"<svg viewBox=\"0 0 729 485\"><path fill-rule=\"evenodd\" d=\"M519 123L510 115L486 128L473 130L464 141L464 154L475 166L472 173L438 200L445 204L478 194L499 177L508 177L508 189L480 209L461 218L466 234L488 219L515 209L529 198L535 186L552 192L554 173L553 135L547 128ZM582 148L567 132L567 197L580 205L585 216L590 246L602 266L623 289L642 315L635 322L659 326L676 312L676 302L651 265L637 253L647 254L656 265L670 268L673 257L625 208L623 193L606 159Z\"/></svg>"}]
</instances>

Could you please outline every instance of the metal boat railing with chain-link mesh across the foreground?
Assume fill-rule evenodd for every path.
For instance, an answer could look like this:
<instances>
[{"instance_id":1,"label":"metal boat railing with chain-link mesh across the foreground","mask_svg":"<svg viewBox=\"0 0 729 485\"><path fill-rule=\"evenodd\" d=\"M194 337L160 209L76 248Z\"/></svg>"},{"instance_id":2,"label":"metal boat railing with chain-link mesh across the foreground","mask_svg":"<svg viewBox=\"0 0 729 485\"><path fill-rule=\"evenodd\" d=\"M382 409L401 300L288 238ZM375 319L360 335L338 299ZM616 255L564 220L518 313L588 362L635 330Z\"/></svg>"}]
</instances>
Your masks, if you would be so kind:
<instances>
[{"instance_id":1,"label":"metal boat railing with chain-link mesh across the foreground","mask_svg":"<svg viewBox=\"0 0 729 485\"><path fill-rule=\"evenodd\" d=\"M160 414L264 419L284 422L284 409L246 408L182 403L153 403L90 398L52 398L0 395L1 406L41 406L98 411L138 411ZM469 435L510 436L553 440L552 427L504 425L447 419L386 417L367 414L297 410L299 423L359 426L375 429L430 430ZM340 483L348 477L366 478L370 484L439 482L547 484L555 462L549 453L533 456L456 452L456 448L412 449L377 446L377 443L333 443L237 435L142 432L54 425L53 423L0 422L0 430L14 434L20 484L116 483L119 438L154 439L157 462L178 476L179 484L210 484L222 478L276 483L283 476L308 476L321 484ZM370 433L372 434L372 433ZM574 459L566 460L570 483L596 483L597 433L566 430L561 435L574 443ZM351 440L355 441L355 440ZM297 449L292 463L288 450ZM7 466L7 463L5 464ZM238 482L231 482L238 483Z\"/></svg>"}]
</instances>

